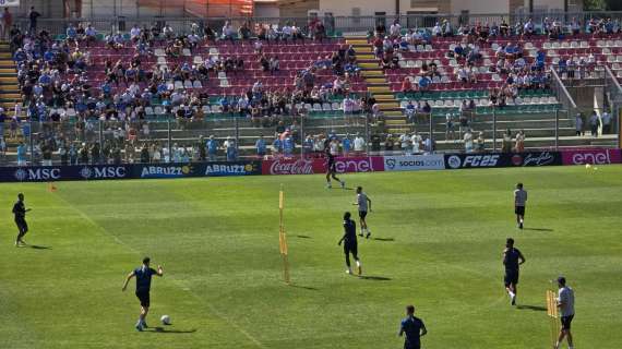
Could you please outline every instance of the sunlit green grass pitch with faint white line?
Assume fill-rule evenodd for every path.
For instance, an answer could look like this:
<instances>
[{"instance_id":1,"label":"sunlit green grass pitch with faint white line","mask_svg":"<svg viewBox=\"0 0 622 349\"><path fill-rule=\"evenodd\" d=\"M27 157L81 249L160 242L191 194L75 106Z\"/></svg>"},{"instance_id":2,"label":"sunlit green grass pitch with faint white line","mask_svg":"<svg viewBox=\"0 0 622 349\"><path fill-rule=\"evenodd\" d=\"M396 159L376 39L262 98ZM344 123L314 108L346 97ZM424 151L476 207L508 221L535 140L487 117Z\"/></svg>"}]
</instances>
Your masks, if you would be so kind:
<instances>
[{"instance_id":1,"label":"sunlit green grass pitch with faint white line","mask_svg":"<svg viewBox=\"0 0 622 349\"><path fill-rule=\"evenodd\" d=\"M368 278L344 273L337 246L351 190L321 176L0 184L0 348L402 348L404 306L428 326L424 348L549 348L549 280L575 289L576 348L620 348L622 167L344 176L373 200L376 239L359 241ZM512 190L529 191L526 230ZM282 281L278 188L287 193L292 286ZM13 246L23 191L39 249ZM501 252L527 263L518 304ZM43 249L49 248L49 249ZM163 264L151 326L124 276ZM565 345L564 345L565 348Z\"/></svg>"}]
</instances>

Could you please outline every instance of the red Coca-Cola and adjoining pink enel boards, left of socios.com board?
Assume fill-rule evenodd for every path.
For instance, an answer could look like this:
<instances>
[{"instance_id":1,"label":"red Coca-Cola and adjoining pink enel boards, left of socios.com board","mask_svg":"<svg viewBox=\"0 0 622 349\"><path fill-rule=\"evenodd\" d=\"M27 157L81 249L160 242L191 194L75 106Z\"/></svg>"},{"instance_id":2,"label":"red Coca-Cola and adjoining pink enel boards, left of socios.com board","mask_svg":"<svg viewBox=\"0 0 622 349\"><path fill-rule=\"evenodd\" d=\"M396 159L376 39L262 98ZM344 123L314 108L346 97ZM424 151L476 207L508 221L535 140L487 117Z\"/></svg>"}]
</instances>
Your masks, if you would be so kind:
<instances>
[{"instance_id":1,"label":"red Coca-Cola and adjoining pink enel boards, left of socios.com board","mask_svg":"<svg viewBox=\"0 0 622 349\"><path fill-rule=\"evenodd\" d=\"M277 158L262 163L263 174L313 174L326 172L324 158ZM384 158L336 157L335 168L338 173L384 171Z\"/></svg>"}]
</instances>

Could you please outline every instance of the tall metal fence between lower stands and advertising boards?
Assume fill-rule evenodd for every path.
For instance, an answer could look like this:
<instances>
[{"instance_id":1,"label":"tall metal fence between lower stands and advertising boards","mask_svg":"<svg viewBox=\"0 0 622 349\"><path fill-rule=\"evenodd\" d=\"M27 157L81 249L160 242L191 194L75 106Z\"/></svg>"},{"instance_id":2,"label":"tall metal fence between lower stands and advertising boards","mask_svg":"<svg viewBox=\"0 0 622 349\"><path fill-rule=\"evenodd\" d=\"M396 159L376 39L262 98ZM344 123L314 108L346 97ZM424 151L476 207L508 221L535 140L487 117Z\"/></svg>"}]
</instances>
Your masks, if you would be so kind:
<instances>
[{"instance_id":1,"label":"tall metal fence between lower stands and advertising boards","mask_svg":"<svg viewBox=\"0 0 622 349\"><path fill-rule=\"evenodd\" d=\"M326 146L346 155L514 152L589 146L593 140L587 127L577 136L574 116L559 110L516 113L493 109L451 115L450 119L436 110L412 116L393 134L386 133L382 119L362 115L0 125L0 166L312 157L321 156ZM524 131L524 142L517 142L519 131ZM332 139L338 139L338 144L330 144Z\"/></svg>"}]
</instances>

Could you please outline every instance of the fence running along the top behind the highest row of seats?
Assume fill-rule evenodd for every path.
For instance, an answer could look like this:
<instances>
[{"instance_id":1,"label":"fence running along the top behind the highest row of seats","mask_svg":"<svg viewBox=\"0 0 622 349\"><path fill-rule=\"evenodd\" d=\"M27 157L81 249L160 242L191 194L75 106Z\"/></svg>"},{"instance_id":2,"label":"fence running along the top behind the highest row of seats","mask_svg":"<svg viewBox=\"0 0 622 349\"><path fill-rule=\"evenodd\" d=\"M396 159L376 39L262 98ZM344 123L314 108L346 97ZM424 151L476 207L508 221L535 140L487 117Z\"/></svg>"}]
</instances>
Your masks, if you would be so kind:
<instances>
[{"instance_id":1,"label":"fence running along the top behind the highest row of seats","mask_svg":"<svg viewBox=\"0 0 622 349\"><path fill-rule=\"evenodd\" d=\"M109 2L106 2L109 3ZM243 23L248 23L253 27L255 24L278 24L284 25L286 23L296 24L306 29L308 23L314 20L315 16L303 16L303 17L258 17L258 16L236 16L230 15L234 13L229 11L227 13L213 14L212 12L206 12L207 15L200 12L192 12L183 10L183 5L180 8L175 8L176 11L168 11L170 7L155 8L149 10L141 10L141 7L134 7L134 11L125 11L119 3L123 1L116 2L117 5L108 5L106 8L106 14L109 16L103 16L97 12L84 12L81 17L70 17L70 19L40 19L38 26L39 28L46 28L51 34L62 34L70 23L92 23L95 28L100 32L128 32L132 25L139 24L153 25L158 23L164 25L164 23L170 24L177 33L190 33L192 24L196 23L200 26L210 26L213 29L220 31L223 24L229 21L235 28L239 27ZM190 8L190 2L187 7ZM187 8L187 9L188 9ZM160 11L162 9L162 11ZM182 9L180 11L179 9ZM220 11L223 12L223 11ZM225 11L226 12L226 11ZM509 13L498 13L498 14L470 14L470 15L458 15L458 14L400 14L400 15L382 15L382 16L333 16L330 14L322 15L319 19L323 21L326 32L328 34L335 33L352 33L352 32L368 32L373 31L376 24L383 23L385 26L390 26L393 22L398 21L403 28L427 28L431 29L436 22L442 22L447 20L453 29L457 29L460 24L501 24L505 21L511 28L514 28L518 23L524 23L528 19L533 20L536 28L541 28L545 19L552 17L561 20L565 28L567 24L573 19L581 21L583 24L583 31L585 31L585 24L590 19L611 19L611 21L619 23L622 22L622 11L619 12L534 12L519 13L519 14L509 14ZM22 29L28 28L28 20L25 17L15 19L15 24Z\"/></svg>"}]
</instances>

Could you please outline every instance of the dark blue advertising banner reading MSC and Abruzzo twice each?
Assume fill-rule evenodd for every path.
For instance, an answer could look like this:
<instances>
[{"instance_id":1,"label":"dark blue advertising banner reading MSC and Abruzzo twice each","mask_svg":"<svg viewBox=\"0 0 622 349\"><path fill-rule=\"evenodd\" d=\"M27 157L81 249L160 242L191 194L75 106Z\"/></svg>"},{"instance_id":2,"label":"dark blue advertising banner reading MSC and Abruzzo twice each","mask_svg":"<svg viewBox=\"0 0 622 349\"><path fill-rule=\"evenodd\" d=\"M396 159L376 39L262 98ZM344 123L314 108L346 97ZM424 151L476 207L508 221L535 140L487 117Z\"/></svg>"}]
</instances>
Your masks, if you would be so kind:
<instances>
[{"instance_id":1,"label":"dark blue advertising banner reading MSC and Abruzzo twice each","mask_svg":"<svg viewBox=\"0 0 622 349\"><path fill-rule=\"evenodd\" d=\"M261 161L0 167L1 182L261 174Z\"/></svg>"}]
</instances>

